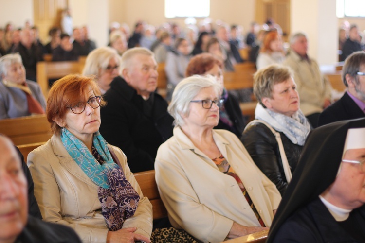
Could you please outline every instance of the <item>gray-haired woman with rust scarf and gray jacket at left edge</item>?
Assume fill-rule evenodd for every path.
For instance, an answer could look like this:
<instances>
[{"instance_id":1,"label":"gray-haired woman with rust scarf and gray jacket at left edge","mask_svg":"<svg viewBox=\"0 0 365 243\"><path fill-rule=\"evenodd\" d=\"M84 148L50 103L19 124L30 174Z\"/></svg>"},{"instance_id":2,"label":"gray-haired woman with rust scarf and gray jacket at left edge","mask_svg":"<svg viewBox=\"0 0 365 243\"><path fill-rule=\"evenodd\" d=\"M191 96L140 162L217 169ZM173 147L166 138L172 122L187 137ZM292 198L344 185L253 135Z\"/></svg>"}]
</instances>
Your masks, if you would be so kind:
<instances>
[{"instance_id":1,"label":"gray-haired woman with rust scarf and gray jacket at left edge","mask_svg":"<svg viewBox=\"0 0 365 243\"><path fill-rule=\"evenodd\" d=\"M0 58L0 119L44 114L46 100L39 85L26 79L19 53Z\"/></svg>"}]
</instances>

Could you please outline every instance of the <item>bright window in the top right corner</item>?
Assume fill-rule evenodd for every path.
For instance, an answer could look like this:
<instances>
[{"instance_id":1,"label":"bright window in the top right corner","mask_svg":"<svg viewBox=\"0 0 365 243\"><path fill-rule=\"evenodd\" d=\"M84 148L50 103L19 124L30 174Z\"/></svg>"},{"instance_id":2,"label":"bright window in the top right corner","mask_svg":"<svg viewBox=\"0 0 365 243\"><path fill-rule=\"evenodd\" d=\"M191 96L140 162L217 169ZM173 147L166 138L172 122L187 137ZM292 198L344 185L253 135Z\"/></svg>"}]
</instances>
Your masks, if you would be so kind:
<instances>
[{"instance_id":1,"label":"bright window in the top right corner","mask_svg":"<svg viewBox=\"0 0 365 243\"><path fill-rule=\"evenodd\" d=\"M337 17L365 17L364 0L337 0Z\"/></svg>"}]
</instances>

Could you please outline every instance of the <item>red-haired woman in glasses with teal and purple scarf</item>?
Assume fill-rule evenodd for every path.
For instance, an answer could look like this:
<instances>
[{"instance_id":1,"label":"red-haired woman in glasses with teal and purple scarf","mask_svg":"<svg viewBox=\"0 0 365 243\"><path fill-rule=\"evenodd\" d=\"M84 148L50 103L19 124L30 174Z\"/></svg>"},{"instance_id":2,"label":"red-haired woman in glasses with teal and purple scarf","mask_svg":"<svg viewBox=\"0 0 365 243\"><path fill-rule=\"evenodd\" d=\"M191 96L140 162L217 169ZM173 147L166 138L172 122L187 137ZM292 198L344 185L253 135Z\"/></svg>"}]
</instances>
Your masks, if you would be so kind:
<instances>
[{"instance_id":1,"label":"red-haired woman in glasses with teal and purple scarf","mask_svg":"<svg viewBox=\"0 0 365 243\"><path fill-rule=\"evenodd\" d=\"M73 227L83 242L150 242L152 206L127 158L99 133L100 90L68 75L52 86L47 119L54 132L28 156L43 220Z\"/></svg>"}]
</instances>

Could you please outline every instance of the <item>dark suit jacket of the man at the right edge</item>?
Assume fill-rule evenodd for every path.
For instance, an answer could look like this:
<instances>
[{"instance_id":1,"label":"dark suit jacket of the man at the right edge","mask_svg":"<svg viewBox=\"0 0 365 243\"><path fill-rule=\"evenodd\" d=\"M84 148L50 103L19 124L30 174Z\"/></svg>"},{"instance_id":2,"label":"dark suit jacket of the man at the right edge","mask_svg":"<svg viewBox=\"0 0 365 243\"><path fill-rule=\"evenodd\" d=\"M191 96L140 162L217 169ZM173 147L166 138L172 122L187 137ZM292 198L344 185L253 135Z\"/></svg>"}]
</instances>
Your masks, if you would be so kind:
<instances>
[{"instance_id":1,"label":"dark suit jacket of the man at the right edge","mask_svg":"<svg viewBox=\"0 0 365 243\"><path fill-rule=\"evenodd\" d=\"M340 100L327 107L318 119L318 126L323 126L335 121L351 120L365 117L364 112L345 92Z\"/></svg>"}]
</instances>

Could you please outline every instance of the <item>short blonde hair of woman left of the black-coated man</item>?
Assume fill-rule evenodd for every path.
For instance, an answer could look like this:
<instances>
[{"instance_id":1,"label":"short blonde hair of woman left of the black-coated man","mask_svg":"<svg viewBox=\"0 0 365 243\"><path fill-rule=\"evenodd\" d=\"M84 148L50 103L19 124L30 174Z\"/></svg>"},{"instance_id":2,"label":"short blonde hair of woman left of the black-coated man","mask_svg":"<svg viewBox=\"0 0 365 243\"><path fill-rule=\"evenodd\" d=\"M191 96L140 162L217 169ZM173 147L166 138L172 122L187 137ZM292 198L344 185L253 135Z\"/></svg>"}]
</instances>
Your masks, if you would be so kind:
<instances>
[{"instance_id":1,"label":"short blonde hair of woman left of the black-coated man","mask_svg":"<svg viewBox=\"0 0 365 243\"><path fill-rule=\"evenodd\" d=\"M99 47L89 53L82 75L98 75L99 69L107 69L110 59L116 58L120 64L118 52L111 47Z\"/></svg>"}]
</instances>

